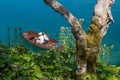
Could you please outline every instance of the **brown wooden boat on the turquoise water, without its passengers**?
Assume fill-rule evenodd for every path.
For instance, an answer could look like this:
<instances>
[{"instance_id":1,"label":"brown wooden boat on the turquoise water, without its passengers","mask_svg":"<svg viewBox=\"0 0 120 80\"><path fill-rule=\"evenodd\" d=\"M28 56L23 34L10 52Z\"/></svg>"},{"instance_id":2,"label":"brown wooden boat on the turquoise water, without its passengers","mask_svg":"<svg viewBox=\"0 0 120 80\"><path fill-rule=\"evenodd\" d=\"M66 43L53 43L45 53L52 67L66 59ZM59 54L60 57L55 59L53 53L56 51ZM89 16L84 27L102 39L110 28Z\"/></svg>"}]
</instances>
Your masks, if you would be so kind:
<instances>
[{"instance_id":1,"label":"brown wooden boat on the turquoise water, without its passengers","mask_svg":"<svg viewBox=\"0 0 120 80\"><path fill-rule=\"evenodd\" d=\"M28 31L22 34L22 37L29 42L30 44L43 48L43 49L51 49L53 47L56 47L56 44L58 43L57 40L49 38L49 41L47 43L36 43L37 37L38 37L38 33L34 32L34 31Z\"/></svg>"}]
</instances>

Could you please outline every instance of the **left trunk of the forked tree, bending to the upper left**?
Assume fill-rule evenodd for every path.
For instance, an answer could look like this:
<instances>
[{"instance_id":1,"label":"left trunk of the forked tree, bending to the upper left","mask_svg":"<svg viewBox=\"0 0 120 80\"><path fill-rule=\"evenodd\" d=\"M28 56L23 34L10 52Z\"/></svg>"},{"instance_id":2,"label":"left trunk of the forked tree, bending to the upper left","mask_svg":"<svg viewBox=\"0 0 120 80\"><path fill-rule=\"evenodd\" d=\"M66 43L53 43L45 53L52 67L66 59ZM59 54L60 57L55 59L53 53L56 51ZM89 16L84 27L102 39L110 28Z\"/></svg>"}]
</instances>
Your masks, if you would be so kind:
<instances>
[{"instance_id":1,"label":"left trunk of the forked tree, bending to the upper left","mask_svg":"<svg viewBox=\"0 0 120 80\"><path fill-rule=\"evenodd\" d=\"M77 70L76 75L84 75L87 71L86 64L86 49L87 49L87 39L86 33L82 29L81 25L77 18L75 18L66 8L64 8L59 2L56 0L44 0L46 4L52 7L59 14L64 16L69 24L72 27L72 33L76 39L76 63ZM79 78L79 77L78 77Z\"/></svg>"}]
</instances>

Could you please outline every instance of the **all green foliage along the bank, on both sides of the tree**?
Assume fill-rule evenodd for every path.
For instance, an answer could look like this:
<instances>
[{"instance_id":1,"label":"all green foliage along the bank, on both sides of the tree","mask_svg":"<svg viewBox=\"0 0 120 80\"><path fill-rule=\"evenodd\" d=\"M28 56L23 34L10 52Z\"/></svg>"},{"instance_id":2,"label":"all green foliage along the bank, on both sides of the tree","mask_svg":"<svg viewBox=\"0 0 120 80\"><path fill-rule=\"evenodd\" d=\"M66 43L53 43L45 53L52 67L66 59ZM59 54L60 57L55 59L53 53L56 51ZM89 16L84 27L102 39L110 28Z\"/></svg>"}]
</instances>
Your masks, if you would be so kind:
<instances>
[{"instance_id":1,"label":"all green foliage along the bank, on both sides of the tree","mask_svg":"<svg viewBox=\"0 0 120 80\"><path fill-rule=\"evenodd\" d=\"M70 28L61 28L63 50L46 50L35 54L22 45L9 48L0 43L0 80L74 80L75 39ZM97 74L82 80L120 80L120 67L108 65L111 46L101 46Z\"/></svg>"}]
</instances>

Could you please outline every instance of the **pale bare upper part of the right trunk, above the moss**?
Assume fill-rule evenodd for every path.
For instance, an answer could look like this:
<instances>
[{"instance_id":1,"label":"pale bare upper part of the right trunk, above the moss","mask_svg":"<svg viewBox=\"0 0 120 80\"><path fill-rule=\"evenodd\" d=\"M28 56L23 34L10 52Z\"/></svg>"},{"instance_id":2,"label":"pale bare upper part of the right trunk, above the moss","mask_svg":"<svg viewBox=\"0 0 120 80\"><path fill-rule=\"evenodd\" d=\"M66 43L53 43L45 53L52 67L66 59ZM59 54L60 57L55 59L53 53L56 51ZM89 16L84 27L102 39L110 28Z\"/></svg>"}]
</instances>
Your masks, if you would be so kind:
<instances>
[{"instance_id":1,"label":"pale bare upper part of the right trunk, above the moss","mask_svg":"<svg viewBox=\"0 0 120 80\"><path fill-rule=\"evenodd\" d=\"M101 29L101 36L103 37L109 24L114 22L111 14L111 6L114 3L114 0L98 0L94 9L93 18L97 19L95 23Z\"/></svg>"}]
</instances>

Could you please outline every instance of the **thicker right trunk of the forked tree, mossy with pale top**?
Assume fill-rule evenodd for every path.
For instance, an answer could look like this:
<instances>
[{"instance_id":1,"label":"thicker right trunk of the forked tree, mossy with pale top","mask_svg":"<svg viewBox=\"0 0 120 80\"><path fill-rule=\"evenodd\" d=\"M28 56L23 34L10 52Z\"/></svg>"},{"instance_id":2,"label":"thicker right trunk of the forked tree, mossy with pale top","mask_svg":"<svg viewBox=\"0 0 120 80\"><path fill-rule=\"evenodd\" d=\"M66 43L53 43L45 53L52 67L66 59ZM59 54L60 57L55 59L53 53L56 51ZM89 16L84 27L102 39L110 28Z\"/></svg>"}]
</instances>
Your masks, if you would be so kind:
<instances>
[{"instance_id":1,"label":"thicker right trunk of the forked tree, mossy with pale top","mask_svg":"<svg viewBox=\"0 0 120 80\"><path fill-rule=\"evenodd\" d=\"M100 44L106 34L109 24L113 21L111 5L114 0L98 0L94 8L92 23L88 29L87 72L96 73L96 58L99 55ZM91 68L92 67L92 68Z\"/></svg>"}]
</instances>

